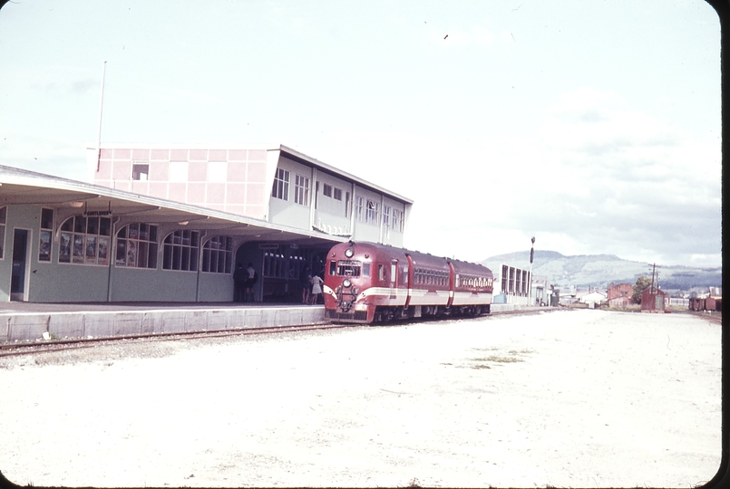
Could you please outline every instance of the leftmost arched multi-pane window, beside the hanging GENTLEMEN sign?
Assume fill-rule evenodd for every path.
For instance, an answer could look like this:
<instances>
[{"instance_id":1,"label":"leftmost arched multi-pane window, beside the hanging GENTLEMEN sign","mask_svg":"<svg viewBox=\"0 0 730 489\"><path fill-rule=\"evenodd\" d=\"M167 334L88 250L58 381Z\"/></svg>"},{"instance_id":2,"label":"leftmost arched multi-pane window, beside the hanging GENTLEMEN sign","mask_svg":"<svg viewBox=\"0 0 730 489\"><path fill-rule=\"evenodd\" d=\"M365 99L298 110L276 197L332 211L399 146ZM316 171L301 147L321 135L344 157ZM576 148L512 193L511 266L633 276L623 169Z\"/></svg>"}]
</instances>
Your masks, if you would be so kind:
<instances>
[{"instance_id":1,"label":"leftmost arched multi-pane window, beside the hanging GENTLEMEN sign","mask_svg":"<svg viewBox=\"0 0 730 489\"><path fill-rule=\"evenodd\" d=\"M109 264L112 219L71 216L59 233L59 264Z\"/></svg>"}]
</instances>

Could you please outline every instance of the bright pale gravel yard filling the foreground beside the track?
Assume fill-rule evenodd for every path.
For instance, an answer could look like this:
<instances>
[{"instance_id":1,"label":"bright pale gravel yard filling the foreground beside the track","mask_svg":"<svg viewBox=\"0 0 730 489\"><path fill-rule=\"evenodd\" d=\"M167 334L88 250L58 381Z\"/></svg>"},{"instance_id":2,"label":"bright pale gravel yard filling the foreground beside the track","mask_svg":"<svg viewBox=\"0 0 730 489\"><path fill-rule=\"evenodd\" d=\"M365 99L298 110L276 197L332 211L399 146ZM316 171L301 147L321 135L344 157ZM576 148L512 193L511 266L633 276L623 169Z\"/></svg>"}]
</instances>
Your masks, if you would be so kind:
<instances>
[{"instance_id":1,"label":"bright pale gravel yard filling the foreground beside the track","mask_svg":"<svg viewBox=\"0 0 730 489\"><path fill-rule=\"evenodd\" d=\"M721 326L572 311L0 358L0 470L84 486L692 487Z\"/></svg>"}]
</instances>

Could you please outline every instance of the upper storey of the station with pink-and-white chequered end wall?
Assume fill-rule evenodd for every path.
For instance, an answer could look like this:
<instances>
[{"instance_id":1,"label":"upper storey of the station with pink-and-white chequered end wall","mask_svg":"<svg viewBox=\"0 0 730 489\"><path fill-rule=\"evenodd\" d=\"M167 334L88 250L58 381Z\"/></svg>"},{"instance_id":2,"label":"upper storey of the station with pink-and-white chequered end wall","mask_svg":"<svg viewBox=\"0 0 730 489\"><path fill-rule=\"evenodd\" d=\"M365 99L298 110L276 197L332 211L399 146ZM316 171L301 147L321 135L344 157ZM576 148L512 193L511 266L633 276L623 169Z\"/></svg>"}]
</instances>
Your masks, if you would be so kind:
<instances>
[{"instance_id":1,"label":"upper storey of the station with pink-and-white chequered end wall","mask_svg":"<svg viewBox=\"0 0 730 489\"><path fill-rule=\"evenodd\" d=\"M403 246L413 205L281 145L102 144L87 155L95 185L386 245Z\"/></svg>"}]
</instances>

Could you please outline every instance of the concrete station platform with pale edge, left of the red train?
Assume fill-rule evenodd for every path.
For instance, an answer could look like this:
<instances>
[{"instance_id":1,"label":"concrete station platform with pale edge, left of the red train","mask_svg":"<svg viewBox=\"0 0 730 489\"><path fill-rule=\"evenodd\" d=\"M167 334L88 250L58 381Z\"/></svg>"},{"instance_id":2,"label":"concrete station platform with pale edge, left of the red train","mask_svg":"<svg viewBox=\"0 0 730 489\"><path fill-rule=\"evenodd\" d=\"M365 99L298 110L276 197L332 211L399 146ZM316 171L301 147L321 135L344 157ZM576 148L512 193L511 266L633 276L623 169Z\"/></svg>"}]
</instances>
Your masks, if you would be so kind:
<instances>
[{"instance_id":1,"label":"concrete station platform with pale edge, left of the red train","mask_svg":"<svg viewBox=\"0 0 730 489\"><path fill-rule=\"evenodd\" d=\"M325 306L267 302L5 302L0 343L246 330L325 322Z\"/></svg>"}]
</instances>

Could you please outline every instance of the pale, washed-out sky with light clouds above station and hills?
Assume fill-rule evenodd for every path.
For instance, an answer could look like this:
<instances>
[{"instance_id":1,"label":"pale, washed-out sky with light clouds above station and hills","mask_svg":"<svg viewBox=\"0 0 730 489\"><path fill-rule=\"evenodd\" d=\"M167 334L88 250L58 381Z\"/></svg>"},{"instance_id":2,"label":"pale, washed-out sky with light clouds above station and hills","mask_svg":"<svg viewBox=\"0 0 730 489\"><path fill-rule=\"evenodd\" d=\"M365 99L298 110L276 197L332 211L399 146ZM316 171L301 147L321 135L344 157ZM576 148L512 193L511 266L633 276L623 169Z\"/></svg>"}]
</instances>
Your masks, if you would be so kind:
<instances>
[{"instance_id":1,"label":"pale, washed-out sky with light clouds above station and hills","mask_svg":"<svg viewBox=\"0 0 730 489\"><path fill-rule=\"evenodd\" d=\"M18 1L0 164L102 141L277 142L414 199L405 245L719 266L720 27L704 1Z\"/></svg>"}]
</instances>

